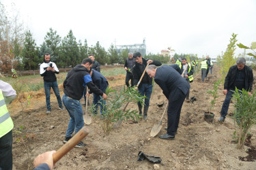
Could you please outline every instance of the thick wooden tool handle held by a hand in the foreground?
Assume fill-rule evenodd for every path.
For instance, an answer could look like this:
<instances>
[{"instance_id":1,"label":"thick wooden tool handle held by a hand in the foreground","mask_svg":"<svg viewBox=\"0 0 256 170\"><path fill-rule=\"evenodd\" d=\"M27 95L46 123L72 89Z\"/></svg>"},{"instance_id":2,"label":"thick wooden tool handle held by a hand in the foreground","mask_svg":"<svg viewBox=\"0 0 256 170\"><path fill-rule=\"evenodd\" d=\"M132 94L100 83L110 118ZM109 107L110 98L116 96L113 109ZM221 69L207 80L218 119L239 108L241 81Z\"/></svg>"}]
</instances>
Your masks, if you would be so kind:
<instances>
[{"instance_id":1,"label":"thick wooden tool handle held by a hand in the foreground","mask_svg":"<svg viewBox=\"0 0 256 170\"><path fill-rule=\"evenodd\" d=\"M88 134L89 129L87 129L86 127L80 129L80 131L76 133L74 137L69 139L68 142L65 143L65 145L61 146L61 148L59 148L59 150L57 150L57 152L53 154L53 164L57 163L57 161L60 160L62 156L70 152L70 150L72 150L72 148L74 148L74 146L76 146L76 144L79 143Z\"/></svg>"}]
</instances>

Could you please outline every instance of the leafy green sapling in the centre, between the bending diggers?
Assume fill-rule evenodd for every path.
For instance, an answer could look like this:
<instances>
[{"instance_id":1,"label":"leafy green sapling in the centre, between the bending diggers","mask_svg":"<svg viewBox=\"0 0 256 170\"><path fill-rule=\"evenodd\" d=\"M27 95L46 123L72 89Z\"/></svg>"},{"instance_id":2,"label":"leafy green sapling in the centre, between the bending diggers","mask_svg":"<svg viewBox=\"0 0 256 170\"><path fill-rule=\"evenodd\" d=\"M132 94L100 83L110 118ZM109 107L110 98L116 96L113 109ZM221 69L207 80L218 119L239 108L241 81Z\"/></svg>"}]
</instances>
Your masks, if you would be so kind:
<instances>
[{"instance_id":1,"label":"leafy green sapling in the centre, between the bending diggers","mask_svg":"<svg viewBox=\"0 0 256 170\"><path fill-rule=\"evenodd\" d=\"M111 92L114 92L112 95ZM139 92L134 87L121 88L120 92L116 90L111 90L111 88L107 88L106 95L109 98L106 100L106 104L103 105L104 109L104 119L102 120L102 129L106 135L109 135L111 129L113 128L113 123L118 120L128 120L132 118L132 120L139 120L139 114L137 114L137 109L127 109L126 107L130 102L140 102L143 105L143 99L145 97L141 97Z\"/></svg>"}]
</instances>

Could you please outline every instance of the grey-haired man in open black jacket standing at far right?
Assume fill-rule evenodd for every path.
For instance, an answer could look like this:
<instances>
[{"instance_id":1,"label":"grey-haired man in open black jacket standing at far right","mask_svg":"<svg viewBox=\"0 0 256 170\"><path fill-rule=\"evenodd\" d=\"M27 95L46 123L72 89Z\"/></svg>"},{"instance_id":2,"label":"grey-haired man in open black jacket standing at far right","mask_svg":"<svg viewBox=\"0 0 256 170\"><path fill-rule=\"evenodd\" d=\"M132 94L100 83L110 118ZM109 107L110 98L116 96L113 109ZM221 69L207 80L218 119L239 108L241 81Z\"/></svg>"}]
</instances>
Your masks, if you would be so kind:
<instances>
[{"instance_id":1,"label":"grey-haired man in open black jacket standing at far right","mask_svg":"<svg viewBox=\"0 0 256 170\"><path fill-rule=\"evenodd\" d=\"M227 111L229 109L229 103L231 101L233 91L238 88L238 90L248 91L251 95L251 90L253 88L253 70L248 67L244 58L238 58L236 65L229 68L229 72L225 78L223 94L226 95L225 101L223 102L223 107L221 109L221 118L218 121L224 122Z\"/></svg>"}]
</instances>

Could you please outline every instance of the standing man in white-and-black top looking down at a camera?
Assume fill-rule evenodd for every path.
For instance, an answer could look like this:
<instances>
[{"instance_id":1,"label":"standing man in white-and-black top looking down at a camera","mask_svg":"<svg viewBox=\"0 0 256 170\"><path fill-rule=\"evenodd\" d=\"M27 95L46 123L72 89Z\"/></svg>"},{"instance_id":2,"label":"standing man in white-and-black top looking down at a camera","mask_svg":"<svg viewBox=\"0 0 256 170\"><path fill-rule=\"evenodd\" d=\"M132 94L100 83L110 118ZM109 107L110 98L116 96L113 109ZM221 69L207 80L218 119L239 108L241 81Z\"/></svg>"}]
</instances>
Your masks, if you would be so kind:
<instances>
[{"instance_id":1,"label":"standing man in white-and-black top looking down at a camera","mask_svg":"<svg viewBox=\"0 0 256 170\"><path fill-rule=\"evenodd\" d=\"M55 63L50 61L50 54L48 53L44 54L44 63L40 65L40 75L44 77L44 92L45 92L46 106L47 106L46 114L51 113L51 101L50 101L51 88L53 88L55 96L57 97L59 109L61 110L64 109L61 102L61 96L59 95L59 86L57 84L57 78L55 73L57 74L59 73L59 69L57 68L57 65L55 65Z\"/></svg>"}]
</instances>

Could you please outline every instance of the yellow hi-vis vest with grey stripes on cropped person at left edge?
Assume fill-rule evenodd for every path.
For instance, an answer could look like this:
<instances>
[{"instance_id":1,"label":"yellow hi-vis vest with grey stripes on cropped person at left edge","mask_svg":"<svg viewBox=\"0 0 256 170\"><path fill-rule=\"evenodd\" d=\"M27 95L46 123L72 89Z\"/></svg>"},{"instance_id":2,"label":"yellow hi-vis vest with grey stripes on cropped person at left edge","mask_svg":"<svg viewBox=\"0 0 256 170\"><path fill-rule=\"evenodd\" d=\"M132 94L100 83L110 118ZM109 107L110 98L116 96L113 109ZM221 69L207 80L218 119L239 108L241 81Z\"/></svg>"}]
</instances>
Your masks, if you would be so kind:
<instances>
[{"instance_id":1,"label":"yellow hi-vis vest with grey stripes on cropped person at left edge","mask_svg":"<svg viewBox=\"0 0 256 170\"><path fill-rule=\"evenodd\" d=\"M3 92L0 89L0 138L12 131L14 123L5 105L5 99L3 98Z\"/></svg>"}]
</instances>

